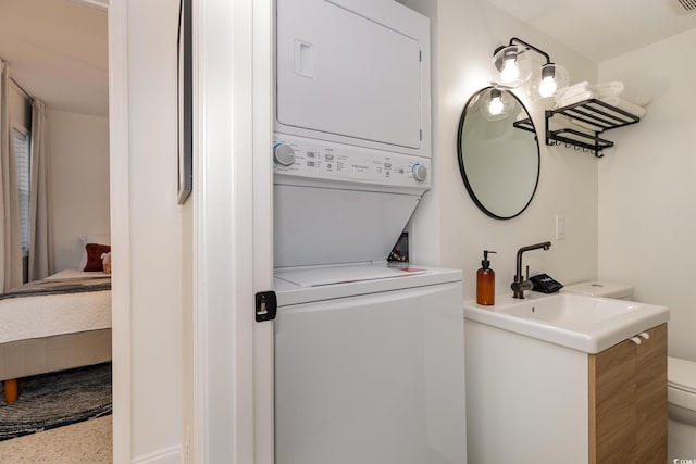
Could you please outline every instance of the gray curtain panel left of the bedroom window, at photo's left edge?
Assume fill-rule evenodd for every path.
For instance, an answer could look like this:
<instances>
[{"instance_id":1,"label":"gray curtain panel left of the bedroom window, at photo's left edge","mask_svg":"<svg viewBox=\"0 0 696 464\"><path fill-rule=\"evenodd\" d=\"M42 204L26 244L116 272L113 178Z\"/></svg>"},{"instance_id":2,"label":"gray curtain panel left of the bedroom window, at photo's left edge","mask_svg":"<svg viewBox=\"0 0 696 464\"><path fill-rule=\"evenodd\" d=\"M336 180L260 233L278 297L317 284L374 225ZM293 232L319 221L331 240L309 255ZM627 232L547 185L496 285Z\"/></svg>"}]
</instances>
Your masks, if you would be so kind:
<instances>
[{"instance_id":1,"label":"gray curtain panel left of the bedroom window, at photo's left edge","mask_svg":"<svg viewBox=\"0 0 696 464\"><path fill-rule=\"evenodd\" d=\"M20 195L9 97L10 68L0 59L0 292L22 285Z\"/></svg>"}]
</instances>

